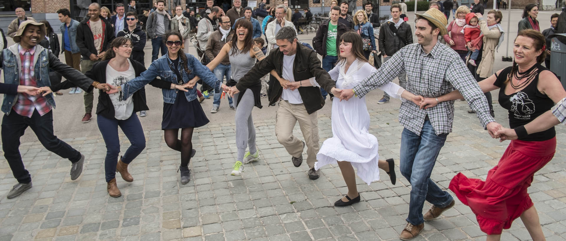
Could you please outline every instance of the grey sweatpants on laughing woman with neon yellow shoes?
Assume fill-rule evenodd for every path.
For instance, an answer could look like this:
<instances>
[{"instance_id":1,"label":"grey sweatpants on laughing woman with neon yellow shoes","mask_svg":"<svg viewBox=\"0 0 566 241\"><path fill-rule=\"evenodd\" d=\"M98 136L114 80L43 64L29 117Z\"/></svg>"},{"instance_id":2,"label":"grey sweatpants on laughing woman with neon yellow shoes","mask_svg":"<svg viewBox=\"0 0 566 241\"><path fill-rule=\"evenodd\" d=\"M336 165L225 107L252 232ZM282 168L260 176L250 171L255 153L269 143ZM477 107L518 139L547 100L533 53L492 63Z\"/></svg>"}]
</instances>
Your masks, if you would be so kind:
<instances>
[{"instance_id":1,"label":"grey sweatpants on laughing woman with neon yellow shoes","mask_svg":"<svg viewBox=\"0 0 566 241\"><path fill-rule=\"evenodd\" d=\"M255 101L251 89L246 89L242 99L238 102L239 94L242 93L234 94L233 98L236 106L236 147L238 148L236 161L243 161L248 146L251 154L256 152L254 120L251 118L251 110L254 109Z\"/></svg>"}]
</instances>

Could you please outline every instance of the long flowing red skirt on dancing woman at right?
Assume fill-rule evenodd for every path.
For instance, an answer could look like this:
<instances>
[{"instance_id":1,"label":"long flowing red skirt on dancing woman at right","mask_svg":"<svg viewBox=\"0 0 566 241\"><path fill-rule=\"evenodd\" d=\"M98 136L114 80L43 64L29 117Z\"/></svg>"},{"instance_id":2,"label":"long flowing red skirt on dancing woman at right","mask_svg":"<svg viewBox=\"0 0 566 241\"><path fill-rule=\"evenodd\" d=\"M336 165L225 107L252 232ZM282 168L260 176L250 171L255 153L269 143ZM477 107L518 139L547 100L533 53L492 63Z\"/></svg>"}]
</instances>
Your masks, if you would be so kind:
<instances>
[{"instance_id":1,"label":"long flowing red skirt on dancing woman at right","mask_svg":"<svg viewBox=\"0 0 566 241\"><path fill-rule=\"evenodd\" d=\"M501 234L533 206L527 188L555 151L556 137L546 141L512 140L498 165L487 173L485 182L458 173L449 188L470 206L484 233Z\"/></svg>"}]
</instances>

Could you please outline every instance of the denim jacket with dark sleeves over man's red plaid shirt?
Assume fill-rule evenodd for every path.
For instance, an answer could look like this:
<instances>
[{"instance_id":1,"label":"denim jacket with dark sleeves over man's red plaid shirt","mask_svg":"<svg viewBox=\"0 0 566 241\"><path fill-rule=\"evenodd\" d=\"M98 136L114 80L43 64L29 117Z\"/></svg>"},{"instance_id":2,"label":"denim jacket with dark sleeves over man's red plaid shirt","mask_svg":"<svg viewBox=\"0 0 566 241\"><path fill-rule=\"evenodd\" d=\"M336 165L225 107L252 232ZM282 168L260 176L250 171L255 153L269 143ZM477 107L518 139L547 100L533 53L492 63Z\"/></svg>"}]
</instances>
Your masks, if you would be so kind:
<instances>
[{"instance_id":1,"label":"denim jacket with dark sleeves over man's red plaid shirt","mask_svg":"<svg viewBox=\"0 0 566 241\"><path fill-rule=\"evenodd\" d=\"M20 73L22 72L22 61L20 60L20 53L18 51L19 44L14 44L7 49L2 50L0 55L0 63L4 70L4 83L6 84L20 84ZM33 53L33 71L37 81L37 87L51 86L49 81L49 69L57 71L62 74L66 79L72 81L85 91L92 91L90 85L92 80L80 73L80 71L61 63L53 53L43 48L41 45L36 45L35 53ZM49 105L55 107L55 100L53 94L45 96ZM10 114L12 107L18 101L18 94L5 94L2 101L2 112Z\"/></svg>"}]
</instances>

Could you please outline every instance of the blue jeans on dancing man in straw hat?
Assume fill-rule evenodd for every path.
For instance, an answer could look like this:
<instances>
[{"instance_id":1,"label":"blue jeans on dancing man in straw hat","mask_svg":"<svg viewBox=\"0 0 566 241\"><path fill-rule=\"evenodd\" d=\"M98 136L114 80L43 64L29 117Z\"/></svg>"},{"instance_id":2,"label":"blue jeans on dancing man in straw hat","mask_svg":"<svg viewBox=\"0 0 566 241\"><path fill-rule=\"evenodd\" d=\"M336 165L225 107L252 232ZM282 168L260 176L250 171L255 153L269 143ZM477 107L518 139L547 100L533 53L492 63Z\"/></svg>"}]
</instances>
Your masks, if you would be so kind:
<instances>
[{"instance_id":1,"label":"blue jeans on dancing man in straw hat","mask_svg":"<svg viewBox=\"0 0 566 241\"><path fill-rule=\"evenodd\" d=\"M412 225L424 222L422 214L424 200L440 208L444 208L454 200L448 192L442 191L430 179L432 168L447 136L448 134L436 135L430 120L424 120L420 136L407 128L401 134L399 170L411 183L409 217L406 221Z\"/></svg>"}]
</instances>

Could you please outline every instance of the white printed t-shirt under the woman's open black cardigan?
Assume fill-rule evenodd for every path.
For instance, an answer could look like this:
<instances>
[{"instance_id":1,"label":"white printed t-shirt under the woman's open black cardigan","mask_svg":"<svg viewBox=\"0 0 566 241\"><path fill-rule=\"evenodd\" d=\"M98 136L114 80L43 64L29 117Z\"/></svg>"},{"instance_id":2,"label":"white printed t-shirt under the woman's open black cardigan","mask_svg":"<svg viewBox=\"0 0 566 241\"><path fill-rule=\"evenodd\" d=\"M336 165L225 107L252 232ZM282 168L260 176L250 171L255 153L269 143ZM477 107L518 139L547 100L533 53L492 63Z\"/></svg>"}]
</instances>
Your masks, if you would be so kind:
<instances>
[{"instance_id":1,"label":"white printed t-shirt under the woman's open black cardigan","mask_svg":"<svg viewBox=\"0 0 566 241\"><path fill-rule=\"evenodd\" d=\"M110 64L106 67L106 83L112 84L114 86L121 86L122 84L136 78L136 72L132 66L132 62L128 59L130 63L130 68L126 71L116 71ZM109 94L110 100L112 100L112 105L114 105L114 118L119 120L125 120L131 117L134 112L134 102L132 102L132 96L128 97L126 100L120 100L120 92Z\"/></svg>"}]
</instances>

